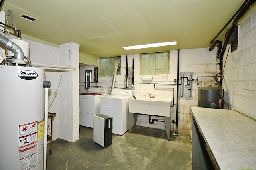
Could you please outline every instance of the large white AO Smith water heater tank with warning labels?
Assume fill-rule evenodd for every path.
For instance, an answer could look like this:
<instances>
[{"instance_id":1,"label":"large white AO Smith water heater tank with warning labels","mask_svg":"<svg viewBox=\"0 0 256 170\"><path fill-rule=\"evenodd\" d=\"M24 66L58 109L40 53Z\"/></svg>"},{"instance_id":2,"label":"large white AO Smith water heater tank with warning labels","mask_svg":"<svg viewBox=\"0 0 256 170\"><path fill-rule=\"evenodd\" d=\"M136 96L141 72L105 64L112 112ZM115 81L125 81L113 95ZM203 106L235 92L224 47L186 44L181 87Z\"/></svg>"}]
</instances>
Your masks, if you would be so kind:
<instances>
[{"instance_id":1,"label":"large white AO Smith water heater tank with warning labels","mask_svg":"<svg viewBox=\"0 0 256 170\"><path fill-rule=\"evenodd\" d=\"M43 169L43 71L0 66L0 169Z\"/></svg>"}]
</instances>

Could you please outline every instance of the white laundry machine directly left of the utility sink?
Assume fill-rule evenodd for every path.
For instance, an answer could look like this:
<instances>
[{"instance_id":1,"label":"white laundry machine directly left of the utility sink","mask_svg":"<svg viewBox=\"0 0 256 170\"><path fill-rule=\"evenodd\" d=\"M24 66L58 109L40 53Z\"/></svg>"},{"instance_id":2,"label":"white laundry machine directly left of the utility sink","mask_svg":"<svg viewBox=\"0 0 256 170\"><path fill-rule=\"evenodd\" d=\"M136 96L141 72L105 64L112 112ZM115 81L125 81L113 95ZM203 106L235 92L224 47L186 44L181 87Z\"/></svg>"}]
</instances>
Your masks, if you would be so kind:
<instances>
[{"instance_id":1,"label":"white laundry machine directly left of the utility sink","mask_svg":"<svg viewBox=\"0 0 256 170\"><path fill-rule=\"evenodd\" d=\"M100 114L113 118L114 134L123 135L129 130L128 99L133 97L133 90L113 89L111 95L102 96Z\"/></svg>"}]
</instances>

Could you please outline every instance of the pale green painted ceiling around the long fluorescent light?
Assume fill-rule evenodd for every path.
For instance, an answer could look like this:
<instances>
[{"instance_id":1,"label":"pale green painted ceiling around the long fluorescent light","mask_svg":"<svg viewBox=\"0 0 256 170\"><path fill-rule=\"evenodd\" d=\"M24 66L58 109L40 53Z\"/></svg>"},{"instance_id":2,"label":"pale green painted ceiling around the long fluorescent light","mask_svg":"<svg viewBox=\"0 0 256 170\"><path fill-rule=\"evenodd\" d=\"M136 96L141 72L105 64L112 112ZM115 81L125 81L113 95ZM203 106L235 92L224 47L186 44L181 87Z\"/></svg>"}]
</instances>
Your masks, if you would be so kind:
<instances>
[{"instance_id":1,"label":"pale green painted ceiling around the long fluorescent light","mask_svg":"<svg viewBox=\"0 0 256 170\"><path fill-rule=\"evenodd\" d=\"M236 13L241 0L5 0L22 37L49 44L74 42L80 52L115 57L176 49L210 47ZM256 3L255 3L256 4ZM254 4L254 6L255 6ZM252 8L248 13L252 12ZM21 14L38 19L30 22ZM12 26L10 16L8 23ZM231 24L216 38L223 40ZM178 45L125 50L122 47L178 41Z\"/></svg>"}]
</instances>

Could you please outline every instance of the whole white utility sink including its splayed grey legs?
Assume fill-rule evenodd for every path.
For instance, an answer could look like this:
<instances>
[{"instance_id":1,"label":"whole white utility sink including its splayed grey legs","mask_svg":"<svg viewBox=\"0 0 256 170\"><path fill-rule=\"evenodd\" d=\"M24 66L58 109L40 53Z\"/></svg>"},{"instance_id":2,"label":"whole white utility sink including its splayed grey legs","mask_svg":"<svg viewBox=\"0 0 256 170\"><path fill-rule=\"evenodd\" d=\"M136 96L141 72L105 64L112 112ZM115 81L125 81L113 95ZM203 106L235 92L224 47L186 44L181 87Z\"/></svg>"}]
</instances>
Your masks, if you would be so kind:
<instances>
[{"instance_id":1,"label":"whole white utility sink including its splayed grey legs","mask_svg":"<svg viewBox=\"0 0 256 170\"><path fill-rule=\"evenodd\" d=\"M132 121L136 127L138 114L164 117L167 140L170 140L170 115L172 98L136 96L128 99L129 103L129 132L132 132Z\"/></svg>"}]
</instances>

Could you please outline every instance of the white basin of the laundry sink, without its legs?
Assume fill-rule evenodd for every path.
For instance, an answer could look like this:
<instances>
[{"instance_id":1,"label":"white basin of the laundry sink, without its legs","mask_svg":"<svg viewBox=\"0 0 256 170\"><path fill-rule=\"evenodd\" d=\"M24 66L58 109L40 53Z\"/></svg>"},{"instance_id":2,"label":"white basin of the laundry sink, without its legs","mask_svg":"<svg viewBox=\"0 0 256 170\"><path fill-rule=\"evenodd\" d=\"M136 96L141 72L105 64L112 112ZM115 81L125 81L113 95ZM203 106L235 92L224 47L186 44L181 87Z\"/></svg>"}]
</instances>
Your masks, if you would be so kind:
<instances>
[{"instance_id":1,"label":"white basin of the laundry sink, without its legs","mask_svg":"<svg viewBox=\"0 0 256 170\"><path fill-rule=\"evenodd\" d=\"M129 112L170 117L172 98L136 96L128 99Z\"/></svg>"}]
</instances>

